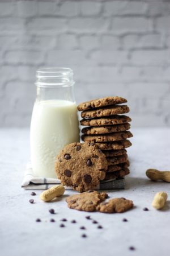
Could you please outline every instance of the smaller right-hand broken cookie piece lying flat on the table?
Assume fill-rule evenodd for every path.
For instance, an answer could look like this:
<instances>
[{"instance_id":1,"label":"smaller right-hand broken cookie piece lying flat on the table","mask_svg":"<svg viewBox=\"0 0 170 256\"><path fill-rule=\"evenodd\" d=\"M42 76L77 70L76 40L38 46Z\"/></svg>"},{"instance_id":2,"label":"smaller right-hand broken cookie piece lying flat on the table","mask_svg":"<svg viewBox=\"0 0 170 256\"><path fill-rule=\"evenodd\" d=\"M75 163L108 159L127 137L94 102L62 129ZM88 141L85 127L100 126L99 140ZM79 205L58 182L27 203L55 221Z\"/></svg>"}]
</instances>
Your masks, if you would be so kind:
<instances>
[{"instance_id":1,"label":"smaller right-hand broken cookie piece lying flat on the table","mask_svg":"<svg viewBox=\"0 0 170 256\"><path fill-rule=\"evenodd\" d=\"M124 197L113 198L97 206L97 210L104 213L122 213L131 208L133 208L133 201L127 200Z\"/></svg>"}]
</instances>

